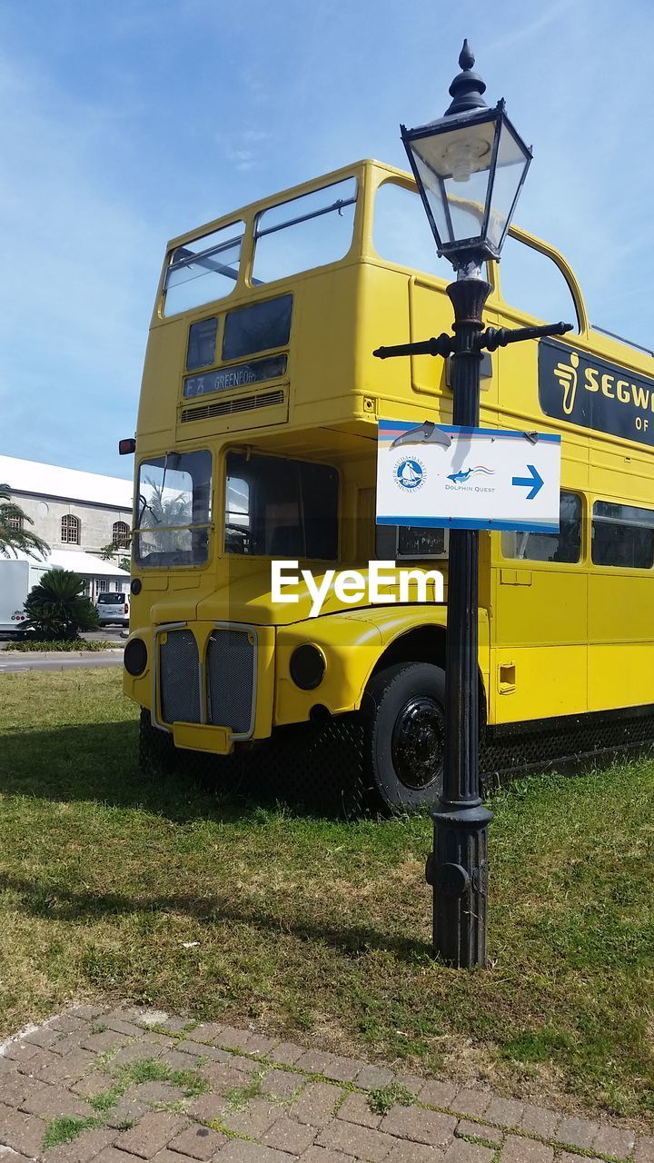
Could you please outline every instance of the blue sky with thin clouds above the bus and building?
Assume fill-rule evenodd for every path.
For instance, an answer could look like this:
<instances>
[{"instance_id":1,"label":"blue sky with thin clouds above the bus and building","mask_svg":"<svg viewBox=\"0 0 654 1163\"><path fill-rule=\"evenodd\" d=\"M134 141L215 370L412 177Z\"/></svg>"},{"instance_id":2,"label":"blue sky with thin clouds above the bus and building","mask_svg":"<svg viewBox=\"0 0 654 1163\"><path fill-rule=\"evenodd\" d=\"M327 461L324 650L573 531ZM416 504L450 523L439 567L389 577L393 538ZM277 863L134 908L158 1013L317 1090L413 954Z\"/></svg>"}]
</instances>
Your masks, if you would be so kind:
<instances>
[{"instance_id":1,"label":"blue sky with thin clouds above the bus and building","mask_svg":"<svg viewBox=\"0 0 654 1163\"><path fill-rule=\"evenodd\" d=\"M652 0L0 0L0 452L130 477L166 241L405 167L399 123L442 115L464 37L533 144L516 221L654 347L653 34Z\"/></svg>"}]
</instances>

